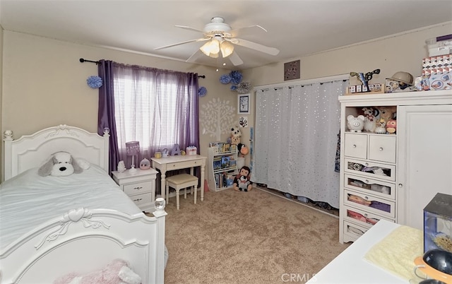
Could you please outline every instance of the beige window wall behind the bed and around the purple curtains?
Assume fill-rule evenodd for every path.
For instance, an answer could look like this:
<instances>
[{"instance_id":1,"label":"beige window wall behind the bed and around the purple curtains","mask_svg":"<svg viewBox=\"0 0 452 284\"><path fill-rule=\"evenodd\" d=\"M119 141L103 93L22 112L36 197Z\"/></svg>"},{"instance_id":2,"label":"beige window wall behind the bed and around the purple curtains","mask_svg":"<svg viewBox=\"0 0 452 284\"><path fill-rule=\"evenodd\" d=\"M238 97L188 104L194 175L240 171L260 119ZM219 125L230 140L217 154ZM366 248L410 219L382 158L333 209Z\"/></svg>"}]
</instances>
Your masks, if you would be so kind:
<instances>
[{"instance_id":1,"label":"beige window wall behind the bed and around the purple curtains","mask_svg":"<svg viewBox=\"0 0 452 284\"><path fill-rule=\"evenodd\" d=\"M199 79L200 86L208 90L206 97L200 98L200 106L213 97L226 97L232 93L229 86L219 81L220 75L229 73L229 70L217 72L212 67L183 61L78 45L8 30L4 30L3 35L3 45L0 45L4 51L0 125L2 134L9 129L14 138L58 124L97 131L97 89L86 84L88 76L97 75L97 66L81 63L80 58L93 61L109 59L206 75L206 78ZM237 100L237 96L230 98ZM235 106L235 102L232 105ZM228 136L222 134L221 140L226 141ZM201 154L207 155L210 141L215 139L201 135Z\"/></svg>"}]
</instances>

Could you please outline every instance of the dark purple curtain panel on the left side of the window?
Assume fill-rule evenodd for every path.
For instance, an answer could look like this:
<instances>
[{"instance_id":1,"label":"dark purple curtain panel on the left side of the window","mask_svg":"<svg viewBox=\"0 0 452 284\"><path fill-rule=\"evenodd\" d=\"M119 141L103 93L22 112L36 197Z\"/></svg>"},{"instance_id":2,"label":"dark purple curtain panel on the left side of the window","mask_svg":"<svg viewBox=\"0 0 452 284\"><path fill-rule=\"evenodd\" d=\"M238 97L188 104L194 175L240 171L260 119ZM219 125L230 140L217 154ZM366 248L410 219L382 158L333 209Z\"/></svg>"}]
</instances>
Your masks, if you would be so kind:
<instances>
[{"instance_id":1,"label":"dark purple curtain panel on the left side of the window","mask_svg":"<svg viewBox=\"0 0 452 284\"><path fill-rule=\"evenodd\" d=\"M97 71L103 84L99 88L99 111L97 112L97 134L102 135L104 129L110 130L109 139L109 173L117 170L119 162L119 150L117 139L117 127L114 119L114 83L113 62L100 60Z\"/></svg>"}]
</instances>

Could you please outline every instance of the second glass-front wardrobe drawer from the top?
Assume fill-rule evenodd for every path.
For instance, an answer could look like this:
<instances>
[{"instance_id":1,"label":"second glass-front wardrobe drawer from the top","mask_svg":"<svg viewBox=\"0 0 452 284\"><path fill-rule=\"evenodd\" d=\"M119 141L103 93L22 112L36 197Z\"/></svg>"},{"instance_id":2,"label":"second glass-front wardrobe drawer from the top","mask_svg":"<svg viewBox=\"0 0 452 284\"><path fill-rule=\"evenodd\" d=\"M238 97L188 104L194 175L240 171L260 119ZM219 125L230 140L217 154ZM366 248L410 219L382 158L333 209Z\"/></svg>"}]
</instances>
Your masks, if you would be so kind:
<instances>
[{"instance_id":1,"label":"second glass-front wardrobe drawer from the top","mask_svg":"<svg viewBox=\"0 0 452 284\"><path fill-rule=\"evenodd\" d=\"M362 192L363 194L380 196L383 199L396 199L396 184L383 182L379 179L344 174L344 187Z\"/></svg>"}]
</instances>

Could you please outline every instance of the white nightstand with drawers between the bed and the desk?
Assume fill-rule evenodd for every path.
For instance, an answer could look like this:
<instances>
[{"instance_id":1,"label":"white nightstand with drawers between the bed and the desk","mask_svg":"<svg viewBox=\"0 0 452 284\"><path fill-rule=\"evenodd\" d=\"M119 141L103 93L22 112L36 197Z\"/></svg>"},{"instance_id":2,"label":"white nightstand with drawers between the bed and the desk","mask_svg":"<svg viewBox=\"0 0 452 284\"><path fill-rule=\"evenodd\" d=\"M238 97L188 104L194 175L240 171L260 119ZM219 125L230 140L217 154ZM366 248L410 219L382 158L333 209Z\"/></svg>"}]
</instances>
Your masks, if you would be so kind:
<instances>
[{"instance_id":1,"label":"white nightstand with drawers between the bed and the desk","mask_svg":"<svg viewBox=\"0 0 452 284\"><path fill-rule=\"evenodd\" d=\"M112 172L114 181L142 211L153 212L155 201L155 177L157 171L136 169L136 172Z\"/></svg>"}]
</instances>

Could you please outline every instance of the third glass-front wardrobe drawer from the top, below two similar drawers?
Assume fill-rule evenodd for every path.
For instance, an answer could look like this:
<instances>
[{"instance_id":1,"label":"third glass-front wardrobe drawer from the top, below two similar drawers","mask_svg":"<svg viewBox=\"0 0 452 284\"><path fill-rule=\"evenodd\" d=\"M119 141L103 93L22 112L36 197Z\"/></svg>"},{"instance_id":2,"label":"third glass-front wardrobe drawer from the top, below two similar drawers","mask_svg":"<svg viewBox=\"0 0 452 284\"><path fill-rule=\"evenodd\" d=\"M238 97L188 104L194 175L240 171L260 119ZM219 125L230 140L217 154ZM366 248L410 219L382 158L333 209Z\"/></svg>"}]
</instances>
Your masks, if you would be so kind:
<instances>
[{"instance_id":1,"label":"third glass-front wardrobe drawer from the top, below two similar drawers","mask_svg":"<svg viewBox=\"0 0 452 284\"><path fill-rule=\"evenodd\" d=\"M362 194L348 189L344 190L344 204L353 208L362 209L369 213L396 218L396 203L380 199L370 194Z\"/></svg>"}]
</instances>

